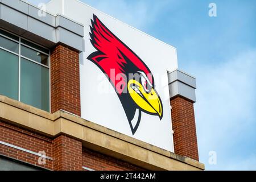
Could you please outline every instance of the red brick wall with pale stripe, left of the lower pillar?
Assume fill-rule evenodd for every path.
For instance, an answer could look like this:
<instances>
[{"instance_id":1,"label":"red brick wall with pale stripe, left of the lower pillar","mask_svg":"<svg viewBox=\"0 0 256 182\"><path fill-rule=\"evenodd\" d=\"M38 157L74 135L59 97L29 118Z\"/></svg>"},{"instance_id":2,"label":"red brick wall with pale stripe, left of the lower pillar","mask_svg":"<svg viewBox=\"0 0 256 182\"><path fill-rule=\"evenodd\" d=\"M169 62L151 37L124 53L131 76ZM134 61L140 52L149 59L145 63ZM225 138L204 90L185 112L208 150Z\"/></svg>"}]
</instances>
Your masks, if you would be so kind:
<instances>
[{"instance_id":1,"label":"red brick wall with pale stripe, left of the lower pillar","mask_svg":"<svg viewBox=\"0 0 256 182\"><path fill-rule=\"evenodd\" d=\"M46 156L52 157L52 140L42 135L32 133L0 121L0 141L38 153L45 151ZM38 163L39 156L24 152L13 147L0 144L0 155L4 155L35 166L52 169L53 161L46 159L46 165Z\"/></svg>"}]
</instances>

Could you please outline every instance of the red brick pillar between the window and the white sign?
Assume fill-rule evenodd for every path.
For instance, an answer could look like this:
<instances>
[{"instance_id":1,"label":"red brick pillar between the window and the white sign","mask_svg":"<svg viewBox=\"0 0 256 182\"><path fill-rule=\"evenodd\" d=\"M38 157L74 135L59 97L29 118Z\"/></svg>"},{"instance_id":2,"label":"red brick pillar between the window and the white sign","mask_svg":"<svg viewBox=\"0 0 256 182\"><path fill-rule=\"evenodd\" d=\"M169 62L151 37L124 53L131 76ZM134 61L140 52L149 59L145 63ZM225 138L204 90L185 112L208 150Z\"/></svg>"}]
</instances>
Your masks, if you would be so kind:
<instances>
[{"instance_id":1,"label":"red brick pillar between the window and the white sign","mask_svg":"<svg viewBox=\"0 0 256 182\"><path fill-rule=\"evenodd\" d=\"M79 51L57 45L51 51L51 112L81 116Z\"/></svg>"}]
</instances>

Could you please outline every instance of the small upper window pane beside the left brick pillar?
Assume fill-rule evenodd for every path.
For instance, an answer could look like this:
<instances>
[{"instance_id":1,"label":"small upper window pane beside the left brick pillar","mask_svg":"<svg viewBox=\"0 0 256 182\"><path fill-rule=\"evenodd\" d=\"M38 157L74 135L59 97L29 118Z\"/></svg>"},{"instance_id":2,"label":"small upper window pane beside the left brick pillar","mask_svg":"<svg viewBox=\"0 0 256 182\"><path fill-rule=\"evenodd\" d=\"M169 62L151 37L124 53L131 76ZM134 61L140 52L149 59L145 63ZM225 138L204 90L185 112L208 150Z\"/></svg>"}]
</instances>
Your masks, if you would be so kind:
<instances>
[{"instance_id":1,"label":"small upper window pane beside the left brick pillar","mask_svg":"<svg viewBox=\"0 0 256 182\"><path fill-rule=\"evenodd\" d=\"M44 64L48 66L48 56L44 55L43 53L40 53L38 51L35 51L31 48L28 48L26 46L20 47L20 52L22 56L25 56L29 59L32 59L38 63Z\"/></svg>"}]
</instances>

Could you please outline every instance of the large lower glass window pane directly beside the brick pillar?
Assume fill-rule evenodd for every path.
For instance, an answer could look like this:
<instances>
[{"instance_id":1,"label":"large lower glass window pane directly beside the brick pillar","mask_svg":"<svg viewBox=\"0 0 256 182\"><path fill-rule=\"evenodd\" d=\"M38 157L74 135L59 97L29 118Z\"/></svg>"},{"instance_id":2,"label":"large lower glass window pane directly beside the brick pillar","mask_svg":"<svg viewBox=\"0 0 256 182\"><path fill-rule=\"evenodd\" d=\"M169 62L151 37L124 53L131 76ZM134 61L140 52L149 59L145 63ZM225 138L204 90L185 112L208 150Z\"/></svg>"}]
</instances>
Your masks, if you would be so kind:
<instances>
[{"instance_id":1,"label":"large lower glass window pane directly beside the brick pillar","mask_svg":"<svg viewBox=\"0 0 256 182\"><path fill-rule=\"evenodd\" d=\"M49 69L21 58L20 101L49 111Z\"/></svg>"}]
</instances>

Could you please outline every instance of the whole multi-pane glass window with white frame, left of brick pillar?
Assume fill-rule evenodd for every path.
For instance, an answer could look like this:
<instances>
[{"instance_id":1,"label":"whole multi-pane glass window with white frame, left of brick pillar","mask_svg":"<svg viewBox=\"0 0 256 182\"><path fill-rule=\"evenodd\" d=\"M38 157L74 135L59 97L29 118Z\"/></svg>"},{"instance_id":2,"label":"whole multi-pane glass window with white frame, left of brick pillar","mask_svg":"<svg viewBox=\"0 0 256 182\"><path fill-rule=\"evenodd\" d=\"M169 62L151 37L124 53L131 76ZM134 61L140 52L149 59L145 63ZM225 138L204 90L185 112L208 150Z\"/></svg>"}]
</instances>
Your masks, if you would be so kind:
<instances>
[{"instance_id":1,"label":"whole multi-pane glass window with white frame, left of brick pillar","mask_svg":"<svg viewBox=\"0 0 256 182\"><path fill-rule=\"evenodd\" d=\"M48 54L48 49L0 29L0 94L49 111Z\"/></svg>"}]
</instances>

